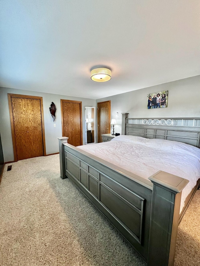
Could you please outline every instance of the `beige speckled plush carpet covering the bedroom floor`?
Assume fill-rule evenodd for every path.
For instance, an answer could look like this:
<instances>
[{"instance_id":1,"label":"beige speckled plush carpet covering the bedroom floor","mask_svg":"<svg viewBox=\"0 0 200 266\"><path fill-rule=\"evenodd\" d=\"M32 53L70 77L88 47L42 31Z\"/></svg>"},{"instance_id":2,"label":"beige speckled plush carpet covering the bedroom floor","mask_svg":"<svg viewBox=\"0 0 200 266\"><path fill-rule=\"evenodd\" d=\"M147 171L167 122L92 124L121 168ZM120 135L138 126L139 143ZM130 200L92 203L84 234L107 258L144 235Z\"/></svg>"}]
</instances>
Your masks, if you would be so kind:
<instances>
[{"instance_id":1,"label":"beige speckled plush carpet covering the bedroom floor","mask_svg":"<svg viewBox=\"0 0 200 266\"><path fill-rule=\"evenodd\" d=\"M9 164L8 164L9 165ZM0 185L1 266L131 266L143 259L69 180L59 155L5 166ZM175 265L200 262L200 191L178 229Z\"/></svg>"}]
</instances>

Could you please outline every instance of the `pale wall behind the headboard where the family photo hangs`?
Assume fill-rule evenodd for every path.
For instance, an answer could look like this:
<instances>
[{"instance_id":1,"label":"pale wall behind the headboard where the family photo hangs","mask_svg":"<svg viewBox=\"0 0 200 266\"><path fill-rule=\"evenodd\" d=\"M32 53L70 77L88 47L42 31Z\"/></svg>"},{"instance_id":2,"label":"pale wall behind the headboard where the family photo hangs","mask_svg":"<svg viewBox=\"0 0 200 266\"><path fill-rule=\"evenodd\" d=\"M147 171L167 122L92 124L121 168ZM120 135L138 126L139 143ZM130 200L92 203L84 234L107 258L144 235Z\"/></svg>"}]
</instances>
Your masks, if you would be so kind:
<instances>
[{"instance_id":1,"label":"pale wall behind the headboard where the family photo hangs","mask_svg":"<svg viewBox=\"0 0 200 266\"><path fill-rule=\"evenodd\" d=\"M168 90L168 107L147 109L147 94L163 90ZM115 133L121 133L121 113L129 113L132 118L200 117L200 75L101 98L97 103L108 100L111 100L111 119L118 123Z\"/></svg>"}]
</instances>

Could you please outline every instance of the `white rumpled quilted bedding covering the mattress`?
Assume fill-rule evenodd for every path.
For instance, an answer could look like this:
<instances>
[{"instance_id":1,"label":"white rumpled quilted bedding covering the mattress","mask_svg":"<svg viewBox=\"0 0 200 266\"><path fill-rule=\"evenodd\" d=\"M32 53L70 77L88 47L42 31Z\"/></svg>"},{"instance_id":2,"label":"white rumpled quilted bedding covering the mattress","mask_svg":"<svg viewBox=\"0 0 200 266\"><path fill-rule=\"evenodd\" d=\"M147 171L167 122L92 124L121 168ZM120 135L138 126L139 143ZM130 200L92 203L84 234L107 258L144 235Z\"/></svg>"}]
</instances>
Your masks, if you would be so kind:
<instances>
[{"instance_id":1,"label":"white rumpled quilted bedding covering the mattress","mask_svg":"<svg viewBox=\"0 0 200 266\"><path fill-rule=\"evenodd\" d=\"M200 149L177 141L121 135L110 142L78 148L146 179L158 170L188 179L180 213L200 177Z\"/></svg>"}]
</instances>

